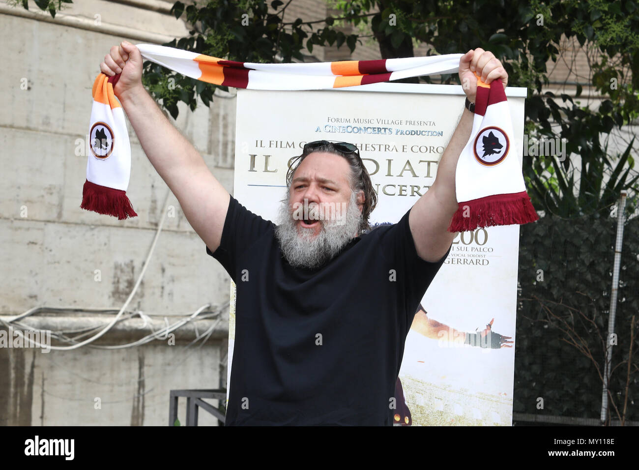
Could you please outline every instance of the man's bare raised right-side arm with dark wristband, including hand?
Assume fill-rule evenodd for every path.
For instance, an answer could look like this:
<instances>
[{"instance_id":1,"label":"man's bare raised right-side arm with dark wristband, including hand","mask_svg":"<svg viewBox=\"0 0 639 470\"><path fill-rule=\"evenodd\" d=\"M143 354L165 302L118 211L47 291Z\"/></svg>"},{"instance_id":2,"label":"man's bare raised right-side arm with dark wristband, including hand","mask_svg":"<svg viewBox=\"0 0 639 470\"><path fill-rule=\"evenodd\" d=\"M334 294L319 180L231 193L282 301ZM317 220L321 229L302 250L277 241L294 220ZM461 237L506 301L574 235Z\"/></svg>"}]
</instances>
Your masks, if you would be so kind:
<instances>
[{"instance_id":1,"label":"man's bare raised right-side arm with dark wristband, including hand","mask_svg":"<svg viewBox=\"0 0 639 470\"><path fill-rule=\"evenodd\" d=\"M489 84L500 79L504 88L508 74L492 52L471 49L459 59L459 79L472 103L477 95L477 77ZM470 138L473 114L464 108L461 119L446 146L437 166L435 182L410 210L408 224L415 240L417 255L422 260L436 262L442 259L458 232L450 233L448 226L458 208L455 189L455 172L461 151Z\"/></svg>"}]
</instances>

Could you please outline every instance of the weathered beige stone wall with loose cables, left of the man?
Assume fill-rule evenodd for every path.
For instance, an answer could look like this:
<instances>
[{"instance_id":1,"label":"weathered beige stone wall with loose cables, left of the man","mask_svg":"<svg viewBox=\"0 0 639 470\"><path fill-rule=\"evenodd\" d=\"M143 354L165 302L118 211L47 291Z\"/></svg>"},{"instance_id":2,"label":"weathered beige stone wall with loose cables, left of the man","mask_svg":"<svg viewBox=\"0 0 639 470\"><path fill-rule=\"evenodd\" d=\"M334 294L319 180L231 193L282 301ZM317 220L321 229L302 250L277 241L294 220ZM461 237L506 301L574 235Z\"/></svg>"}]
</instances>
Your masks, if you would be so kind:
<instances>
[{"instance_id":1,"label":"weathered beige stone wall with loose cables, left of the man","mask_svg":"<svg viewBox=\"0 0 639 470\"><path fill-rule=\"evenodd\" d=\"M35 307L61 308L24 320L54 331L113 317L139 277L167 194L167 217L155 253L127 311L151 319L127 320L98 344L132 342L206 304L228 301L229 276L206 255L176 198L151 166L135 133L127 194L138 217L82 210L91 87L99 65L121 40L162 43L188 34L169 15L172 1L75 1L52 19L30 2L0 2L0 318ZM26 84L26 86L25 86ZM169 117L169 120L172 120ZM216 98L212 109L180 108L176 127L194 143L215 176L233 191L235 100ZM85 310L68 313L65 308ZM224 317L226 315L226 317ZM185 345L206 330L182 327L176 345L154 340L119 350L88 346L71 351L0 348L0 425L166 425L169 390L226 384L228 311L202 347ZM137 318L142 324L142 320ZM6 331L6 327L4 328ZM178 333L178 332L176 332ZM95 408L100 398L101 409ZM182 400L184 402L184 400ZM184 403L180 419L184 421ZM215 424L200 414L202 424Z\"/></svg>"}]
</instances>

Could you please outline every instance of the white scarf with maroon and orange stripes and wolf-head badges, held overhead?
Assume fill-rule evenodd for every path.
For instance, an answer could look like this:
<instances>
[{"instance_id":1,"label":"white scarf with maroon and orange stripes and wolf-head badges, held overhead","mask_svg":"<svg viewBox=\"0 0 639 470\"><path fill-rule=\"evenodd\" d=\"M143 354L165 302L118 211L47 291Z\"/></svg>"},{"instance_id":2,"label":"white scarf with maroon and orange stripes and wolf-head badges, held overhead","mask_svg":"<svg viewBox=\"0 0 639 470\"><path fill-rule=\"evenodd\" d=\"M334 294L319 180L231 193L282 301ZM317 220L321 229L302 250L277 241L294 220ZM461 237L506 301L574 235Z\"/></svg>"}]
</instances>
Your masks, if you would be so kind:
<instances>
[{"instance_id":1,"label":"white scarf with maroon and orange stripes and wolf-head badges, held overhead","mask_svg":"<svg viewBox=\"0 0 639 470\"><path fill-rule=\"evenodd\" d=\"M194 79L249 90L326 90L458 71L463 54L323 63L249 63L173 47L138 44L142 58ZM90 152L81 208L135 217L126 191L131 149L122 107L113 93L119 74L93 83ZM525 224L539 217L530 203L520 161L512 152L511 116L499 81L478 79L473 130L456 168L459 203L448 230ZM507 158L508 156L511 158Z\"/></svg>"}]
</instances>

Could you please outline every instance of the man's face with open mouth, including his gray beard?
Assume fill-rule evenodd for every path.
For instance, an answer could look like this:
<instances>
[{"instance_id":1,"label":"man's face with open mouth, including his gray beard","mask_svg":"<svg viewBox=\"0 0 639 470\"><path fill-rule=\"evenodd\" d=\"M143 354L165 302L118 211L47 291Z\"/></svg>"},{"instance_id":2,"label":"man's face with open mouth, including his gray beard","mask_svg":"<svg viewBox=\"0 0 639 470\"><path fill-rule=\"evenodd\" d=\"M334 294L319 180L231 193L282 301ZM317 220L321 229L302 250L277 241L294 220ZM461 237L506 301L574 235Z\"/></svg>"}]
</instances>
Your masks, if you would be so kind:
<instances>
[{"instance_id":1,"label":"man's face with open mouth, including his gray beard","mask_svg":"<svg viewBox=\"0 0 639 470\"><path fill-rule=\"evenodd\" d=\"M357 237L364 193L351 190L349 176L346 159L327 152L311 153L296 169L276 230L291 265L319 267Z\"/></svg>"}]
</instances>

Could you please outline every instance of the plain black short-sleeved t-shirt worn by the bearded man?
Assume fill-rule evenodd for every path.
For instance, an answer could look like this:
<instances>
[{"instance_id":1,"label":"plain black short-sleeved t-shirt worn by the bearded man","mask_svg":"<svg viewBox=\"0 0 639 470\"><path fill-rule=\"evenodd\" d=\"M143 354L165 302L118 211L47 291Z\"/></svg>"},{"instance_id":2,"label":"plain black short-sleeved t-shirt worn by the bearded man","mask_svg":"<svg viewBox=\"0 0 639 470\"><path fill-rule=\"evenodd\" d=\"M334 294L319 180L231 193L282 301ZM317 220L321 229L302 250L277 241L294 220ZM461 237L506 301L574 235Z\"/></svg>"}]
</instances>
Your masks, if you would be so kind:
<instances>
[{"instance_id":1,"label":"plain black short-sleeved t-shirt worn by the bearded man","mask_svg":"<svg viewBox=\"0 0 639 470\"><path fill-rule=\"evenodd\" d=\"M450 252L419 258L409 213L295 269L275 224L231 196L220 246L206 247L236 283L227 426L392 425L406 334Z\"/></svg>"}]
</instances>

